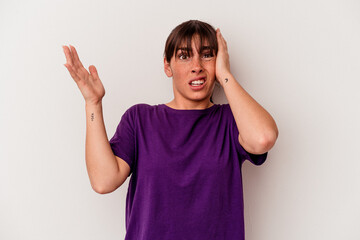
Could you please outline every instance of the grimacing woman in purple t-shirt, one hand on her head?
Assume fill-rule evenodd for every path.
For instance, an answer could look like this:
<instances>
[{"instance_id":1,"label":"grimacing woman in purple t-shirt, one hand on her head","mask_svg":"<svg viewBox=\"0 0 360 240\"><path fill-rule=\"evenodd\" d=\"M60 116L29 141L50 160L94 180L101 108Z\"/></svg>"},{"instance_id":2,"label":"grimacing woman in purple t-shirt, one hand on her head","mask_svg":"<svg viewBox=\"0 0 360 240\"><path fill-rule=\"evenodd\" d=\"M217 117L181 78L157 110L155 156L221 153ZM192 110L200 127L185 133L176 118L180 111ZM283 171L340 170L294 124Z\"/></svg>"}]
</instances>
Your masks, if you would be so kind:
<instances>
[{"instance_id":1,"label":"grimacing woman in purple t-shirt, one hand on her head","mask_svg":"<svg viewBox=\"0 0 360 240\"><path fill-rule=\"evenodd\" d=\"M277 126L230 72L220 30L191 20L169 35L164 70L174 99L137 104L108 141L105 94L94 66L64 47L65 66L86 102L86 163L91 185L109 193L132 174L125 239L244 239L241 166L262 164ZM213 104L215 81L229 104Z\"/></svg>"}]
</instances>

